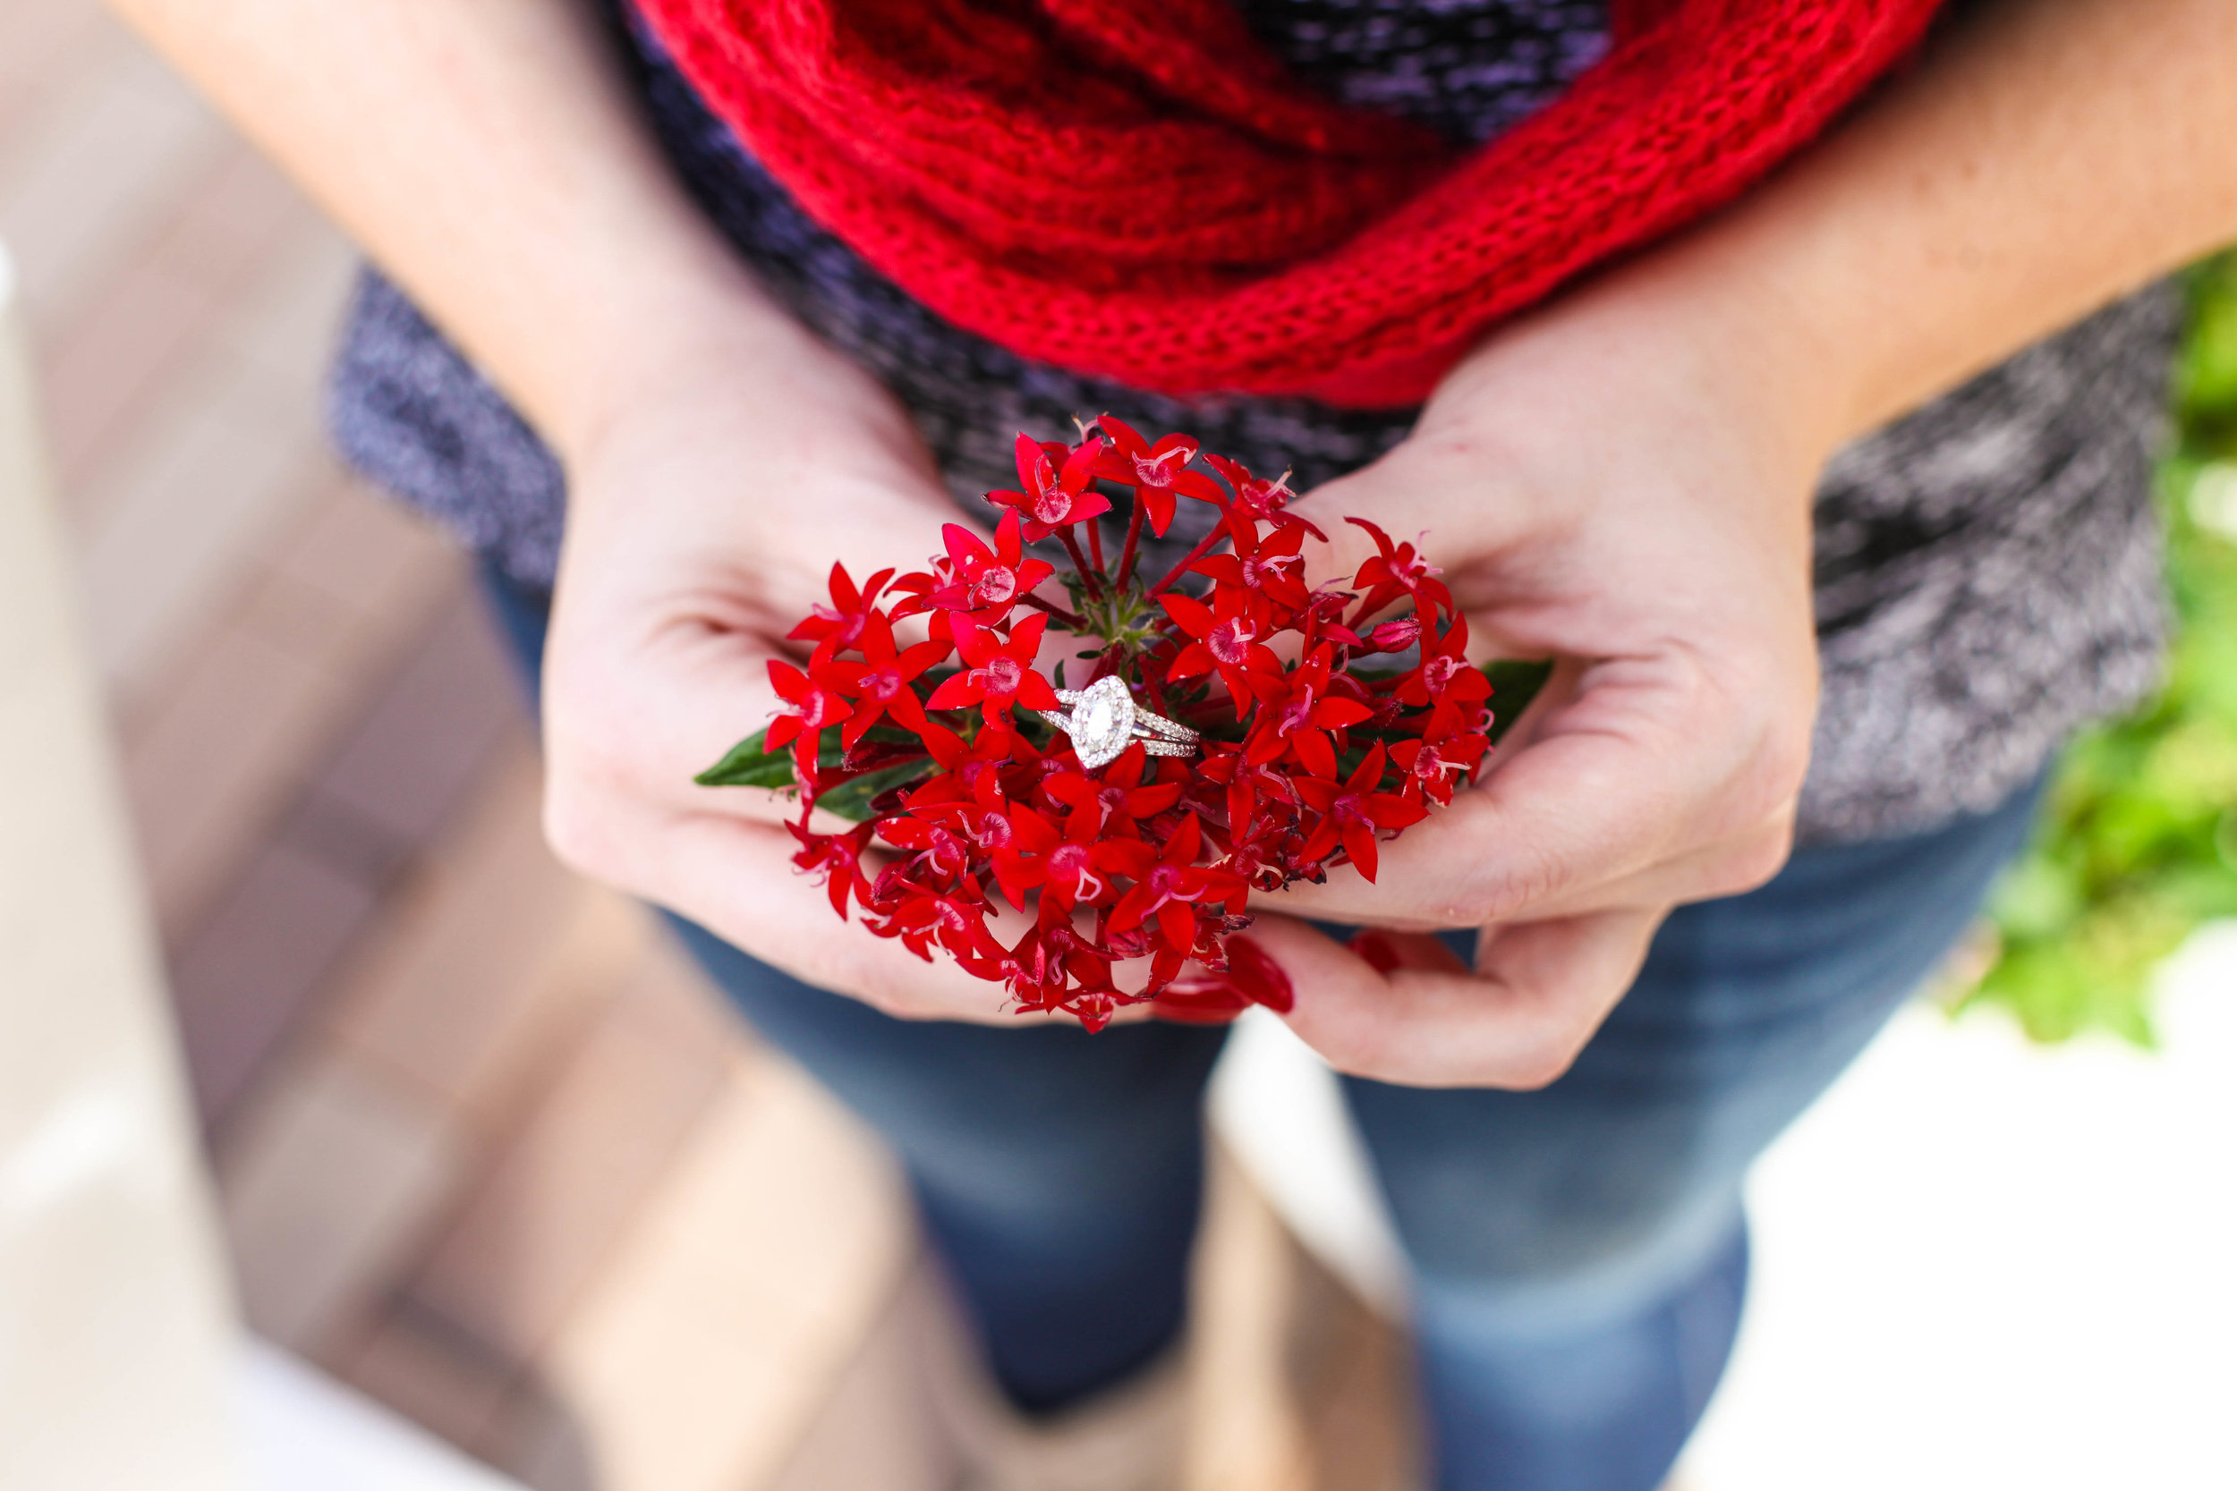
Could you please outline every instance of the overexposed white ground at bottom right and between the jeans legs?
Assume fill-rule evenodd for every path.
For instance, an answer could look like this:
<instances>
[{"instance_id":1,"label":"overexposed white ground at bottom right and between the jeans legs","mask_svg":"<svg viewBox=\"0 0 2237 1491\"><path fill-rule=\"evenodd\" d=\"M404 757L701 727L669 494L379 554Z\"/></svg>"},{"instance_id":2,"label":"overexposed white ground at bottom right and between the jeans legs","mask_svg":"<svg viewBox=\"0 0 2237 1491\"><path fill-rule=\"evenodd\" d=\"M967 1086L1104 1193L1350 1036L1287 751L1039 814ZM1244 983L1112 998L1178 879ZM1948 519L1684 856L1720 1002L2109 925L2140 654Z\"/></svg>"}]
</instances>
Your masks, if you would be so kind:
<instances>
[{"instance_id":1,"label":"overexposed white ground at bottom right and between the jeans legs","mask_svg":"<svg viewBox=\"0 0 2237 1491\"><path fill-rule=\"evenodd\" d=\"M2237 925L2170 961L2163 1051L1913 1006L1763 1158L1756 1272L1687 1491L2237 1491ZM1244 1019L1212 1120L1385 1308L1333 1077Z\"/></svg>"}]
</instances>

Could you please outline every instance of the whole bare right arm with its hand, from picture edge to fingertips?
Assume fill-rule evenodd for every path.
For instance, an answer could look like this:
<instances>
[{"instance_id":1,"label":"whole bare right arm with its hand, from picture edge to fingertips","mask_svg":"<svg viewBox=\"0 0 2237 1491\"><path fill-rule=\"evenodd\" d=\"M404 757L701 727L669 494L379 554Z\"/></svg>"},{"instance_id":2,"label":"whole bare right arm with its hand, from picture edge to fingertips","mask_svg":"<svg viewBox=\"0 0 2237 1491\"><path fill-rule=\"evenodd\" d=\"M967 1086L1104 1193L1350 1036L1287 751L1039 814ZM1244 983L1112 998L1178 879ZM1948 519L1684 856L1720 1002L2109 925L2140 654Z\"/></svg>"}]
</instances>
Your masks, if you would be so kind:
<instances>
[{"instance_id":1,"label":"whole bare right arm with its hand, from picture edge to fingertips","mask_svg":"<svg viewBox=\"0 0 2237 1491\"><path fill-rule=\"evenodd\" d=\"M2237 9L1998 0L1687 235L1501 331L1416 438L1324 514L1429 530L1476 635L1568 666L1483 787L1382 883L1300 914L1488 925L1389 977L1302 923L1264 939L1297 1031L1394 1082L1559 1075L1678 901L1769 876L1814 702L1821 460L2237 235Z\"/></svg>"}]
</instances>

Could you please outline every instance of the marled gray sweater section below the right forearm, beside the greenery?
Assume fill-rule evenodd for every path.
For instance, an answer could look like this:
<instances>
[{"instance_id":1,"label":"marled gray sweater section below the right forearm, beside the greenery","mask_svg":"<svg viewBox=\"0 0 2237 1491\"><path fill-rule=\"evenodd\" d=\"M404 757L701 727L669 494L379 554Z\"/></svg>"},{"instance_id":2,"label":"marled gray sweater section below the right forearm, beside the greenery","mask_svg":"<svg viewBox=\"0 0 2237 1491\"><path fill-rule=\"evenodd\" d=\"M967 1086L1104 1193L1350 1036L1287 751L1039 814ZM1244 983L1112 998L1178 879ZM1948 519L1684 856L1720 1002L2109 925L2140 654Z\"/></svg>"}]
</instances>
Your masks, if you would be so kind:
<instances>
[{"instance_id":1,"label":"marled gray sweater section below the right forearm, beside the greenery","mask_svg":"<svg viewBox=\"0 0 2237 1491\"><path fill-rule=\"evenodd\" d=\"M1995 807L2076 724L2150 693L2179 331L2181 295L2154 286L1834 458L1810 838Z\"/></svg>"}]
</instances>

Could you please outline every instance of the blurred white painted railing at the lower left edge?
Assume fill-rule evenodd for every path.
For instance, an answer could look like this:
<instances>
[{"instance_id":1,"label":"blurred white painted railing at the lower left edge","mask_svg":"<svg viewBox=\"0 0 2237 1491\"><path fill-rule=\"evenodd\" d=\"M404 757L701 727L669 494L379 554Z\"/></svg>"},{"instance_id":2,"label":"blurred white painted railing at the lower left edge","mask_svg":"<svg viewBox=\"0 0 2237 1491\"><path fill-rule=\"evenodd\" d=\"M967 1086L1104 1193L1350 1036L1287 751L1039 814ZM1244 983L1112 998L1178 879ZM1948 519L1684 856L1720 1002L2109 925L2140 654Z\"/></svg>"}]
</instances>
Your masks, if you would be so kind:
<instances>
[{"instance_id":1,"label":"blurred white painted railing at the lower left edge","mask_svg":"<svg viewBox=\"0 0 2237 1491\"><path fill-rule=\"evenodd\" d=\"M519 1491L233 1317L0 248L0 1491Z\"/></svg>"}]
</instances>

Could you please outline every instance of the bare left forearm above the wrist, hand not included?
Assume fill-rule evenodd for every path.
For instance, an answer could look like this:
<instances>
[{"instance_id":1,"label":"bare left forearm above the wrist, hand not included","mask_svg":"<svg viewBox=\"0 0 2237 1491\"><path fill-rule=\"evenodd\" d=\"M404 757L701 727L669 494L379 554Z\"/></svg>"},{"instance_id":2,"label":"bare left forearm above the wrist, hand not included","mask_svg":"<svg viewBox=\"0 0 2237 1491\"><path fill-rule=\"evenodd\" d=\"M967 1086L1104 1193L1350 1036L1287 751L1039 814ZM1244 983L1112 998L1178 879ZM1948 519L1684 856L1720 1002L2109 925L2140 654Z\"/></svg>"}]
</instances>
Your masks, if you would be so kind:
<instances>
[{"instance_id":1,"label":"bare left forearm above the wrist, hand not included","mask_svg":"<svg viewBox=\"0 0 2237 1491\"><path fill-rule=\"evenodd\" d=\"M114 0L570 454L803 333L673 186L573 0Z\"/></svg>"}]
</instances>

